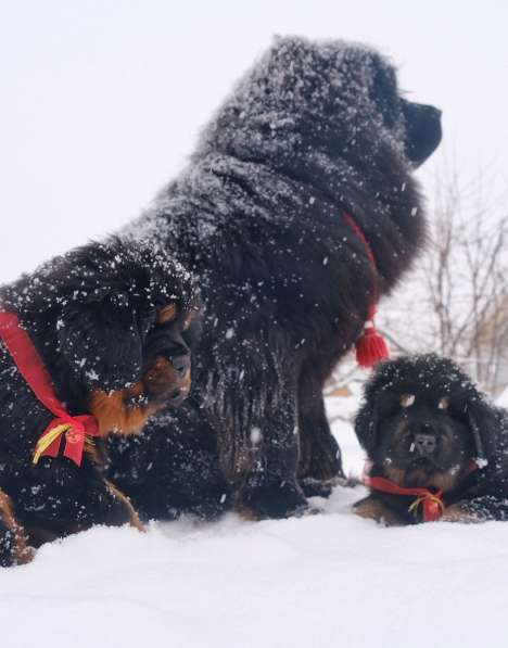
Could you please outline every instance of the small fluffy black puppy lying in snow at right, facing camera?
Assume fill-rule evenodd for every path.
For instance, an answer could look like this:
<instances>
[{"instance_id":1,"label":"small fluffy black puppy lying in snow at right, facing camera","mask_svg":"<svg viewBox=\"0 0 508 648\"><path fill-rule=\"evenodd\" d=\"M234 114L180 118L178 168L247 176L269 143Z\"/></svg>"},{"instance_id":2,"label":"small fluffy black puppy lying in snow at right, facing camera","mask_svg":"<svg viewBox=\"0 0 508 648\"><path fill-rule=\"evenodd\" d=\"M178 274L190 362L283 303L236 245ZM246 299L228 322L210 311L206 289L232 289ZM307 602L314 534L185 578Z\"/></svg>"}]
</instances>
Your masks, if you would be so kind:
<instances>
[{"instance_id":1,"label":"small fluffy black puppy lying in snow at right, facing camera","mask_svg":"<svg viewBox=\"0 0 508 648\"><path fill-rule=\"evenodd\" d=\"M355 512L388 525L508 519L508 418L452 360L382 364L356 434L371 468Z\"/></svg>"}]
</instances>

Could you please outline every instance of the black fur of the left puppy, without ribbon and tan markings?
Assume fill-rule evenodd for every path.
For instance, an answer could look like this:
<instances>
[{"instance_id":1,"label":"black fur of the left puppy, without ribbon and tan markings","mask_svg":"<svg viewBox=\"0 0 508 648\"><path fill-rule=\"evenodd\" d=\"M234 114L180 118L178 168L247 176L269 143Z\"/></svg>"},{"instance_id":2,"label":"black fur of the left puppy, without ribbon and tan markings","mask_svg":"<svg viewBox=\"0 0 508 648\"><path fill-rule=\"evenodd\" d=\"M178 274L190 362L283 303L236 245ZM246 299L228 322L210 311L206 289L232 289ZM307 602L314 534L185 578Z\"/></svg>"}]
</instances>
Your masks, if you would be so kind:
<instances>
[{"instance_id":1,"label":"black fur of the left puppy, without ribbon and tan markings","mask_svg":"<svg viewBox=\"0 0 508 648\"><path fill-rule=\"evenodd\" d=\"M117 239L74 250L0 289L1 308L17 314L72 415L89 412L98 390L127 390L122 411L179 404L186 395L183 389L175 391L180 378L166 391L157 383L156 393L140 381L161 356L175 376L189 369L200 326L199 318L191 321L195 300L191 278L179 265ZM175 306L172 321L157 323L168 304ZM145 389L128 401L136 383ZM0 343L0 495L10 497L28 542L36 545L92 523L132 523L129 506L104 482L100 440L80 468L62 456L33 463L36 442L53 418ZM9 545L9 533L0 520L0 547ZM12 551L0 551L0 564L15 560Z\"/></svg>"}]
</instances>

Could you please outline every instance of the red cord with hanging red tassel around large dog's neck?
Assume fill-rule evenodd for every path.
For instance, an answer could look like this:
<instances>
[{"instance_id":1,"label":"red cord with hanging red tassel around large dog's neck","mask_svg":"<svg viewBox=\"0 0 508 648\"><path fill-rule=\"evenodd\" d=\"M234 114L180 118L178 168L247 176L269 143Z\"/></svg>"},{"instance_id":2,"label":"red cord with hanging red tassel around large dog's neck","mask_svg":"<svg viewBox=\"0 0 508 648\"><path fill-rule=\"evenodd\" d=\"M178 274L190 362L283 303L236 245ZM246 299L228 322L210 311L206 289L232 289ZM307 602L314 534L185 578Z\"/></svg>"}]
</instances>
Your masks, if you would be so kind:
<instances>
[{"instance_id":1,"label":"red cord with hanging red tassel around large dog's neck","mask_svg":"<svg viewBox=\"0 0 508 648\"><path fill-rule=\"evenodd\" d=\"M372 247L370 246L369 242L367 241L367 238L361 231L361 228L353 218L353 216L347 212L343 212L343 214L347 225L351 227L357 239L361 241L361 243L364 244L365 251L367 253L367 258L369 259L369 264L372 269L372 275L377 283L379 271L378 265L376 263L376 257L372 252ZM390 350L388 347L386 341L382 335L380 335L374 325L376 312L378 309L378 300L379 292L377 290L377 285L374 284L373 297L371 298L369 304L368 319L364 325L363 332L360 333L359 338L355 343L356 360L358 365L364 369L370 369L379 361L390 358Z\"/></svg>"}]
</instances>

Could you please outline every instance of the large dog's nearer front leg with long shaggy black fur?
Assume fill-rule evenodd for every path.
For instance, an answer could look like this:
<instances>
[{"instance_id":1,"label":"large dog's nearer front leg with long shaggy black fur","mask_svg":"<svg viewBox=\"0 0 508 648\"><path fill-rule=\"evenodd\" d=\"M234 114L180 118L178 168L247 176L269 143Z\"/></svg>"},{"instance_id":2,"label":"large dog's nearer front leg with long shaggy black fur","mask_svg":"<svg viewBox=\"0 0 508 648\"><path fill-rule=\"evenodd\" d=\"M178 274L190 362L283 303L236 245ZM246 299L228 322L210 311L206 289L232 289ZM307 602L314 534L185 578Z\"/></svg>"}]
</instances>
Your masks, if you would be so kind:
<instances>
[{"instance_id":1,"label":"large dog's nearer front leg with long shaggy black fur","mask_svg":"<svg viewBox=\"0 0 508 648\"><path fill-rule=\"evenodd\" d=\"M255 519L307 508L296 481L299 360L285 344L282 332L266 341L245 333L220 340L209 352L215 363L201 387L233 503Z\"/></svg>"}]
</instances>

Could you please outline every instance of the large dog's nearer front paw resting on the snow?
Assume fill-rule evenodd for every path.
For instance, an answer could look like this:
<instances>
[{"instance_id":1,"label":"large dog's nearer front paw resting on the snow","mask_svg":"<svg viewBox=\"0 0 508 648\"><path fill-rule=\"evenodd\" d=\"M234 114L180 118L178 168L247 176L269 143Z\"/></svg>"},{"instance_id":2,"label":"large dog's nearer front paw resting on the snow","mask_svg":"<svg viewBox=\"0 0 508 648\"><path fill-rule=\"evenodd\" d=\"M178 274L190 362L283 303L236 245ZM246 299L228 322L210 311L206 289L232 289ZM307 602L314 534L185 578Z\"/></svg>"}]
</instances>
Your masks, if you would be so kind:
<instances>
[{"instance_id":1,"label":"large dog's nearer front paw resting on the snow","mask_svg":"<svg viewBox=\"0 0 508 648\"><path fill-rule=\"evenodd\" d=\"M237 495L237 509L251 520L282 519L309 512L302 488L295 481L246 484Z\"/></svg>"}]
</instances>

